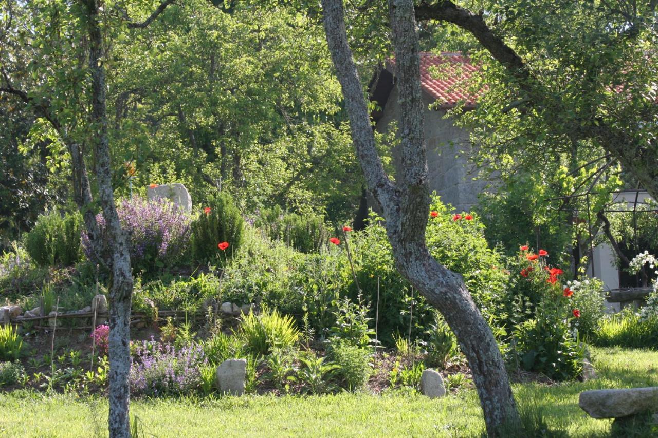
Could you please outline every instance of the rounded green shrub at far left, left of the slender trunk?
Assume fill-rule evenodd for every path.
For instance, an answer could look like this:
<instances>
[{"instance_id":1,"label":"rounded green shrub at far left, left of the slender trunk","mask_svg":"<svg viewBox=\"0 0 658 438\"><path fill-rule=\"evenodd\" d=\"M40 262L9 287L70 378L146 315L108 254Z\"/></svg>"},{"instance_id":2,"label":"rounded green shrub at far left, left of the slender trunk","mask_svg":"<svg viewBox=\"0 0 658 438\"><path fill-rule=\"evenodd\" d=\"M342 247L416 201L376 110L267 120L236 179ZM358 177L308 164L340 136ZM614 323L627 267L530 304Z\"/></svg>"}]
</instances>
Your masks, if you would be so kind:
<instances>
[{"instance_id":1,"label":"rounded green shrub at far left, left of the slender trunk","mask_svg":"<svg viewBox=\"0 0 658 438\"><path fill-rule=\"evenodd\" d=\"M41 214L24 237L25 249L39 266L71 266L80 260L81 224L78 213L62 215L53 209Z\"/></svg>"}]
</instances>

